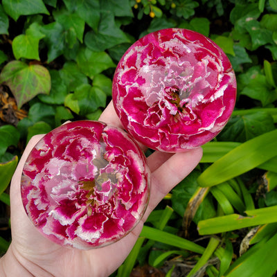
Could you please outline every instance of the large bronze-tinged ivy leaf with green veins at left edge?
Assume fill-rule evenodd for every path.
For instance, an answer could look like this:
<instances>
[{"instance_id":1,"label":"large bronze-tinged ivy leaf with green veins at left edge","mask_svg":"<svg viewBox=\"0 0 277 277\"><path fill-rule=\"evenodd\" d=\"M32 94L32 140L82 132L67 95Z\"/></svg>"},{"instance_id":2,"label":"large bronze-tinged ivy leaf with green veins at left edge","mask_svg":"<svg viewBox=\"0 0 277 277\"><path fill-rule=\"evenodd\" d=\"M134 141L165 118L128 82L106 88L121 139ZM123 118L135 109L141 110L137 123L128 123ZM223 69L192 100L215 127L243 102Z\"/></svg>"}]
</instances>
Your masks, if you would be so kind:
<instances>
[{"instance_id":1,"label":"large bronze-tinged ivy leaf with green veins at left edge","mask_svg":"<svg viewBox=\"0 0 277 277\"><path fill-rule=\"evenodd\" d=\"M51 89L51 77L44 66L19 61L4 66L0 75L0 83L2 82L12 91L19 109L37 94L48 94Z\"/></svg>"}]
</instances>

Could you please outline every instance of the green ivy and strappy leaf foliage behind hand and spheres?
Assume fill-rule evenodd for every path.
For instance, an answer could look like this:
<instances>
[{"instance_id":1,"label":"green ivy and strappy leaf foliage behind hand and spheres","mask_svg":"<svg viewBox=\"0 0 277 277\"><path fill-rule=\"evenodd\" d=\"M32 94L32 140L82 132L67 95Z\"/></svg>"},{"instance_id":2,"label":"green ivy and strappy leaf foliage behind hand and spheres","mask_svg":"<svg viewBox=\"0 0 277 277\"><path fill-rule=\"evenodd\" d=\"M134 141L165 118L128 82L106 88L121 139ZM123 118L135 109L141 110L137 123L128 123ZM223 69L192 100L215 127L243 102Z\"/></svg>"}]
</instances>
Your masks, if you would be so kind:
<instances>
[{"instance_id":1,"label":"green ivy and strappy leaf foliage behind hand and spheres","mask_svg":"<svg viewBox=\"0 0 277 277\"><path fill-rule=\"evenodd\" d=\"M277 270L276 0L0 1L0 250L9 184L31 136L96 120L120 57L162 28L211 37L238 82L231 120L150 215L113 276L274 276Z\"/></svg>"}]
</instances>

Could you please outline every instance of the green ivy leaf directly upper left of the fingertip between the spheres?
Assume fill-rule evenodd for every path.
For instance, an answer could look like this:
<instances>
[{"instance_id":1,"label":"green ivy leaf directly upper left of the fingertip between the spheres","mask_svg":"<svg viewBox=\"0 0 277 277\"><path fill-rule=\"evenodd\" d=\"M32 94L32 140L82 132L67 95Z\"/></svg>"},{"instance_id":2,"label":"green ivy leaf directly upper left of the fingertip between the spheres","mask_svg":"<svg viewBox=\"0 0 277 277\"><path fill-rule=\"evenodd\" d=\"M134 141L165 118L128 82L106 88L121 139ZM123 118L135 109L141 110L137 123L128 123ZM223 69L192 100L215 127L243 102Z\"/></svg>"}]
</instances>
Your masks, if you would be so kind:
<instances>
[{"instance_id":1,"label":"green ivy leaf directly upper left of the fingertip between the spheres","mask_svg":"<svg viewBox=\"0 0 277 277\"><path fill-rule=\"evenodd\" d=\"M99 107L106 106L107 95L97 87L90 84L82 84L75 89L72 100L78 100L79 114L84 116L96 111Z\"/></svg>"}]
</instances>

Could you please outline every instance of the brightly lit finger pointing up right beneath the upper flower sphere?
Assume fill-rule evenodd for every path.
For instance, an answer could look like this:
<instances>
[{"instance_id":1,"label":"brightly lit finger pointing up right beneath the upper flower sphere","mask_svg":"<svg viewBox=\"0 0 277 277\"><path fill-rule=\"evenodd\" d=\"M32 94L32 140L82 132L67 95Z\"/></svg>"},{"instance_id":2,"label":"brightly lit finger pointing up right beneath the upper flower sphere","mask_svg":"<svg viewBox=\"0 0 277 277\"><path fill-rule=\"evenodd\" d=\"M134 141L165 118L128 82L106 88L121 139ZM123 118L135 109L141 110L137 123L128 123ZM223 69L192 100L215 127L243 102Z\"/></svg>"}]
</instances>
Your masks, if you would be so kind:
<instances>
[{"instance_id":1,"label":"brightly lit finger pointing up right beneath the upper flower sphere","mask_svg":"<svg viewBox=\"0 0 277 277\"><path fill-rule=\"evenodd\" d=\"M163 157L165 156L163 155ZM197 166L201 158L202 148L196 148L184 153L176 153L152 172L150 200L143 221L147 219L148 215L161 202L163 197Z\"/></svg>"}]
</instances>

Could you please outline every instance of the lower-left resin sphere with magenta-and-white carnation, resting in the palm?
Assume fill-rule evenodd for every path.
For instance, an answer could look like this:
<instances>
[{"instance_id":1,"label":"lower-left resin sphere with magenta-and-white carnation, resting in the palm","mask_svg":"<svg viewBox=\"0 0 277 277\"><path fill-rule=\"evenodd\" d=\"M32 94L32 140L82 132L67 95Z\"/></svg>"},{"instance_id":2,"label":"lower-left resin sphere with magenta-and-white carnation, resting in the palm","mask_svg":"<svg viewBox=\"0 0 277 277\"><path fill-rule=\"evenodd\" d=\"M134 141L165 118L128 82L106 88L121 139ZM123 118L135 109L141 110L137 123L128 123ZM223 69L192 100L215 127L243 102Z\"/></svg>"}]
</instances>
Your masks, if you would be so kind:
<instances>
[{"instance_id":1,"label":"lower-left resin sphere with magenta-and-white carnation, resting in the palm","mask_svg":"<svg viewBox=\"0 0 277 277\"><path fill-rule=\"evenodd\" d=\"M37 143L24 166L21 196L46 237L90 249L123 238L141 220L149 178L145 156L129 135L82 120Z\"/></svg>"}]
</instances>

